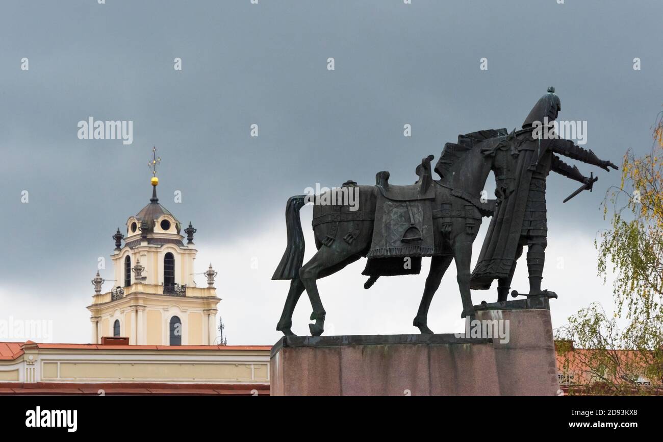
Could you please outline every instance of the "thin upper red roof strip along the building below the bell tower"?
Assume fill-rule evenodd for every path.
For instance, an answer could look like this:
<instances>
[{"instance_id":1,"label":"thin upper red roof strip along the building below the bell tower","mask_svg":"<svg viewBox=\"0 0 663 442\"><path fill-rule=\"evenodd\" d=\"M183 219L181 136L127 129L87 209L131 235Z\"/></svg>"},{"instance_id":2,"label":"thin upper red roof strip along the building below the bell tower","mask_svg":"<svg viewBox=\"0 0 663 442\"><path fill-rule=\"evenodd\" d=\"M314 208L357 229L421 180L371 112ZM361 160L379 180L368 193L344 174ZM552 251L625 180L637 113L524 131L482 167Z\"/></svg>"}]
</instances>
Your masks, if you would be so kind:
<instances>
[{"instance_id":1,"label":"thin upper red roof strip along the building below the bell tower","mask_svg":"<svg viewBox=\"0 0 663 442\"><path fill-rule=\"evenodd\" d=\"M39 344L31 340L0 342L0 360L13 360L23 354L23 348L53 348L61 350L271 350L271 345L101 345L101 344Z\"/></svg>"}]
</instances>

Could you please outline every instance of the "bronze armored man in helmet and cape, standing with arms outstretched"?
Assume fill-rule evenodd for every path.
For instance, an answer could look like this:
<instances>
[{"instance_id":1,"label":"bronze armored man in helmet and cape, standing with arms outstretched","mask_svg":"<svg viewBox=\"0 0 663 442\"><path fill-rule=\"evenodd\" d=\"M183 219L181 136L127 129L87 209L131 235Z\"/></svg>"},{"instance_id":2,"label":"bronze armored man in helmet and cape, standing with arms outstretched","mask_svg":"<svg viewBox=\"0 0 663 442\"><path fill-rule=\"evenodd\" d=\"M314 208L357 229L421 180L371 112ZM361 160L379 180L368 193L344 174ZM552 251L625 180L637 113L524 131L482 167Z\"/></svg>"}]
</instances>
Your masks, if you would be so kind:
<instances>
[{"instance_id":1,"label":"bronze armored man in helmet and cape, standing with arms outstretched","mask_svg":"<svg viewBox=\"0 0 663 442\"><path fill-rule=\"evenodd\" d=\"M558 155L601 167L605 171L617 169L610 161L599 159L591 150L556 137L550 123L556 120L560 110L560 98L554 88L548 88L548 93L536 102L522 124L522 130L516 131L512 140L518 150L516 169L497 177L495 194L508 198L499 204L491 219L479 260L472 272L471 288L489 289L493 279L497 279L498 301L507 300L516 261L522 255L524 246L527 246L529 295L554 296L554 293L541 289L548 245L546 177L554 171L585 184L585 188L591 188L596 181L584 177L575 166L564 163Z\"/></svg>"}]
</instances>

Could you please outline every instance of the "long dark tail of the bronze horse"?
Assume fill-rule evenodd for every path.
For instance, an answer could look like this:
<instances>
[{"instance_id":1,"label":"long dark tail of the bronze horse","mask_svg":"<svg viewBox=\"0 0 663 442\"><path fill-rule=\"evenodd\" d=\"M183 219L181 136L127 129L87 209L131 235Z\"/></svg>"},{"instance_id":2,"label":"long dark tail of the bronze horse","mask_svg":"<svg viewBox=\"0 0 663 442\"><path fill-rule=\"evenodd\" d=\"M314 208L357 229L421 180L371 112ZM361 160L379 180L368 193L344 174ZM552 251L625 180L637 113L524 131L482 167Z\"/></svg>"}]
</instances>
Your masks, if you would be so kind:
<instances>
[{"instance_id":1,"label":"long dark tail of the bronze horse","mask_svg":"<svg viewBox=\"0 0 663 442\"><path fill-rule=\"evenodd\" d=\"M290 196L286 203L286 231L288 245L272 279L296 279L304 263L304 232L299 219L299 210L304 206L306 195Z\"/></svg>"}]
</instances>

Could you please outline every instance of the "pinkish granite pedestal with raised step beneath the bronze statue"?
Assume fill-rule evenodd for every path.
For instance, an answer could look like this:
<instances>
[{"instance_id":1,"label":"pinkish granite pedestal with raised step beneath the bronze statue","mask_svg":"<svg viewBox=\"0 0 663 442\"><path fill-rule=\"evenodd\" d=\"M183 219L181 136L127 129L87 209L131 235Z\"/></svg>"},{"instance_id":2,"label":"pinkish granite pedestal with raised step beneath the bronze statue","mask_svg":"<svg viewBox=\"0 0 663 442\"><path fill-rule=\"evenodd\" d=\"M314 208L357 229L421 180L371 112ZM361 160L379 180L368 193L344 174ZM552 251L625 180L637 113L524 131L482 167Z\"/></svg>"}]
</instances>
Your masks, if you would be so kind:
<instances>
[{"instance_id":1,"label":"pinkish granite pedestal with raised step beneath the bronze statue","mask_svg":"<svg viewBox=\"0 0 663 442\"><path fill-rule=\"evenodd\" d=\"M479 321L499 324L503 331L508 323L508 339L485 337L485 332L481 337L284 336L272 347L271 394L556 395L560 387L548 299L484 303L475 309Z\"/></svg>"}]
</instances>

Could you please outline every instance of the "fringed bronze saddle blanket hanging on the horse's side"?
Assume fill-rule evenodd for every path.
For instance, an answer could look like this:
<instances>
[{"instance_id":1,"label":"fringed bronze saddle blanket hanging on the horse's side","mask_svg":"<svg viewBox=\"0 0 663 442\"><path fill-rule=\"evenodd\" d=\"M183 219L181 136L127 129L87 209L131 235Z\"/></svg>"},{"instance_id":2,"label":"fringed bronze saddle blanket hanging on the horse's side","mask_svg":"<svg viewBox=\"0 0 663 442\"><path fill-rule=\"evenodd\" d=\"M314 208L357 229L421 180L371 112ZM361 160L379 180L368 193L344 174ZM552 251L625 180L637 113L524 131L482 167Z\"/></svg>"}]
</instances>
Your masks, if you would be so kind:
<instances>
[{"instance_id":1,"label":"fringed bronze saddle blanket hanging on the horse's side","mask_svg":"<svg viewBox=\"0 0 663 442\"><path fill-rule=\"evenodd\" d=\"M377 192L373 240L367 258L432 256L431 204L432 200L390 200Z\"/></svg>"}]
</instances>

